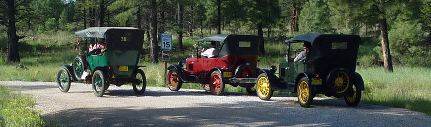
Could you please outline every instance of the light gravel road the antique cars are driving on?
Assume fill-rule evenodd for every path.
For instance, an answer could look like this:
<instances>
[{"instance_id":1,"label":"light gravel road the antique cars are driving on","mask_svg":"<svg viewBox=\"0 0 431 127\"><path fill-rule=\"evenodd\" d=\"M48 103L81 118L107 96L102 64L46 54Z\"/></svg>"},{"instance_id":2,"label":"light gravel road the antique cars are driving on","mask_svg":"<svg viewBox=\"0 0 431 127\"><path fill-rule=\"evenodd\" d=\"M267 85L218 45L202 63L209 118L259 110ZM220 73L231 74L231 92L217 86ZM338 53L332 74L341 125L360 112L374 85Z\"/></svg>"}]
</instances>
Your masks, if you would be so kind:
<instances>
[{"instance_id":1,"label":"light gravel road the antique cars are driving on","mask_svg":"<svg viewBox=\"0 0 431 127\"><path fill-rule=\"evenodd\" d=\"M95 97L91 86L72 83L61 92L55 82L0 81L31 94L35 108L58 126L431 126L431 116L386 106L314 98L302 108L297 98L227 93L212 96L204 90L147 87L136 96L131 86L111 86Z\"/></svg>"}]
</instances>

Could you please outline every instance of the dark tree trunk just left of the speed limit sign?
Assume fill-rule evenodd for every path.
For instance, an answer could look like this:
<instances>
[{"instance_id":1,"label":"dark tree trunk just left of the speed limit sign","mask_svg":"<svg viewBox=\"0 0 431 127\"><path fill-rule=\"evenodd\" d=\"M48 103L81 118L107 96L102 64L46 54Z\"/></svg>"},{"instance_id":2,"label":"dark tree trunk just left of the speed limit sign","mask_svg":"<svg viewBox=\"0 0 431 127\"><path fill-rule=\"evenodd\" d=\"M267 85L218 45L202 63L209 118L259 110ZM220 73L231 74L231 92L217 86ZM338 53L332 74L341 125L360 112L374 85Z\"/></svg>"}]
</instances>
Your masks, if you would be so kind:
<instances>
[{"instance_id":1,"label":"dark tree trunk just left of the speed limit sign","mask_svg":"<svg viewBox=\"0 0 431 127\"><path fill-rule=\"evenodd\" d=\"M159 47L157 40L157 7L156 0L151 0L151 62L159 62Z\"/></svg>"}]
</instances>

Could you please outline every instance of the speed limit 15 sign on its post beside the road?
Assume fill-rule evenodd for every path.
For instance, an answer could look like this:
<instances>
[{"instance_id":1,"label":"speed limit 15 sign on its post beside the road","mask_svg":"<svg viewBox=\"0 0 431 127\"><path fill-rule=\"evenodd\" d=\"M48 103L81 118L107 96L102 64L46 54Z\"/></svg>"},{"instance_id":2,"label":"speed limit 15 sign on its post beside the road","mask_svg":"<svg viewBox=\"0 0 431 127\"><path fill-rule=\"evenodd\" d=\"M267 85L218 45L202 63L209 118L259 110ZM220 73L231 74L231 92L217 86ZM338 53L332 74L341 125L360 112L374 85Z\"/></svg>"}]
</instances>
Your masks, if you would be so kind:
<instances>
[{"instance_id":1,"label":"speed limit 15 sign on its post beside the road","mask_svg":"<svg viewBox=\"0 0 431 127\"><path fill-rule=\"evenodd\" d=\"M162 60L165 62L165 75L163 76L166 83L167 62L170 60L170 50L172 50L172 34L160 34L160 49L162 49Z\"/></svg>"}]
</instances>

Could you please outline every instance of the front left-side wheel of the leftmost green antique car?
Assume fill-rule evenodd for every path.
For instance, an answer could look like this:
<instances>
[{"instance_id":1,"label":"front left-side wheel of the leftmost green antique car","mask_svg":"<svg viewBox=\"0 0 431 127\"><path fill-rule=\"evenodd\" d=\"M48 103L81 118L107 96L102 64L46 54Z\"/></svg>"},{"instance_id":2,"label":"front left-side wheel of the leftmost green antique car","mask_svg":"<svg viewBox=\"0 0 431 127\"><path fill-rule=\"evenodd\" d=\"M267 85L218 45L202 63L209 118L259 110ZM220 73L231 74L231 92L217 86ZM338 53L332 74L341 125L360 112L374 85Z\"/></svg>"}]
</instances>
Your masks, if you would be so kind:
<instances>
[{"instance_id":1,"label":"front left-side wheel of the leftmost green antique car","mask_svg":"<svg viewBox=\"0 0 431 127\"><path fill-rule=\"evenodd\" d=\"M57 86L62 92L67 92L70 89L70 74L69 72L61 68L57 73Z\"/></svg>"}]
</instances>

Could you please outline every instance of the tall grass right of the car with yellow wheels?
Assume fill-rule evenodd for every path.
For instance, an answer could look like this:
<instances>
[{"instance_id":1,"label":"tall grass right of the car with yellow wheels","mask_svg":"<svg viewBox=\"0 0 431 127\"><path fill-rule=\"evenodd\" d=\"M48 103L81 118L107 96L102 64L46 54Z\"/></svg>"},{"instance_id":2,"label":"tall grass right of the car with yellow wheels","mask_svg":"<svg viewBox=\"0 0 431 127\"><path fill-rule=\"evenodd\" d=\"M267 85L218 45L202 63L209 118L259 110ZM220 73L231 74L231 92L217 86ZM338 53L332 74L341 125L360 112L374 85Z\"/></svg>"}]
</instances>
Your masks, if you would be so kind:
<instances>
[{"instance_id":1,"label":"tall grass right of the car with yellow wheels","mask_svg":"<svg viewBox=\"0 0 431 127\"><path fill-rule=\"evenodd\" d=\"M383 68L369 68L357 72L365 80L362 102L431 115L431 69L399 67L385 73Z\"/></svg>"}]
</instances>

